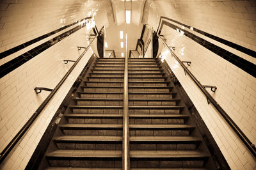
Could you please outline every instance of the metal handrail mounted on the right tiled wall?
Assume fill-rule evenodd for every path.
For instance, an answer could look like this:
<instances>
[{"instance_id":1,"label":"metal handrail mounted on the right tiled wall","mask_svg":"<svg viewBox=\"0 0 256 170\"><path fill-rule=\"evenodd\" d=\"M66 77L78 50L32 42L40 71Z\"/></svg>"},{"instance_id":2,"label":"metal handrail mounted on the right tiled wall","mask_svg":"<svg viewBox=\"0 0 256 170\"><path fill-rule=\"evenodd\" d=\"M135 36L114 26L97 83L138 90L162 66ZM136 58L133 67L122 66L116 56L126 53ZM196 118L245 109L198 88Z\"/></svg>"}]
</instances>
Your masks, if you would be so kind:
<instances>
[{"instance_id":1,"label":"metal handrail mounted on the right tiled wall","mask_svg":"<svg viewBox=\"0 0 256 170\"><path fill-rule=\"evenodd\" d=\"M198 86L198 88L204 93L204 95L207 98L207 100L212 103L212 105L216 108L216 110L218 112L220 112L221 116L227 121L228 125L230 125L230 127L240 137L241 141L243 141L243 143L248 148L248 150L250 150L250 152L252 153L253 157L256 158L255 145L248 139L248 137L246 137L246 135L243 133L243 131L236 125L236 123L230 118L230 116L228 116L227 112L225 112L222 109L222 107L218 104L218 102L216 102L216 100L214 100L214 98L212 98L212 96L208 93L208 91L204 88L204 86L196 79L196 77L193 75L193 73L191 73L188 70L188 68L184 65L184 63L182 63L182 61L180 61L180 59L174 54L172 49L170 49L170 47L168 47L168 45L163 40L163 38L160 35L158 35L158 34L157 34L157 36L162 40L164 46L171 52L172 56L175 59L177 59L179 64L182 66L182 68L184 68L184 70L188 73L189 77L191 77L191 79L195 82L196 86Z\"/></svg>"}]
</instances>

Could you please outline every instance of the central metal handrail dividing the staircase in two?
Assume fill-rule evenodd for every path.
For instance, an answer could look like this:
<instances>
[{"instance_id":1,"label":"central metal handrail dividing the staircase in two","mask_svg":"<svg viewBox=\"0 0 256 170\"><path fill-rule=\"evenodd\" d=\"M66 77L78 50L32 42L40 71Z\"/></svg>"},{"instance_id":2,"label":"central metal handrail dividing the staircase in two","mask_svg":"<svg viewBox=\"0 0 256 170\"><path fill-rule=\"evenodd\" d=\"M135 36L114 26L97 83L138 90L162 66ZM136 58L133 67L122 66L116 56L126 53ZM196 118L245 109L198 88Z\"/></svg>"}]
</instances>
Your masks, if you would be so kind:
<instances>
[{"instance_id":1,"label":"central metal handrail dividing the staircase in two","mask_svg":"<svg viewBox=\"0 0 256 170\"><path fill-rule=\"evenodd\" d=\"M127 35L126 35L127 44ZM127 57L127 45L125 52L125 65L124 65L124 115L123 115L123 153L122 153L122 169L130 169L129 158L129 102L128 102L128 57Z\"/></svg>"}]
</instances>

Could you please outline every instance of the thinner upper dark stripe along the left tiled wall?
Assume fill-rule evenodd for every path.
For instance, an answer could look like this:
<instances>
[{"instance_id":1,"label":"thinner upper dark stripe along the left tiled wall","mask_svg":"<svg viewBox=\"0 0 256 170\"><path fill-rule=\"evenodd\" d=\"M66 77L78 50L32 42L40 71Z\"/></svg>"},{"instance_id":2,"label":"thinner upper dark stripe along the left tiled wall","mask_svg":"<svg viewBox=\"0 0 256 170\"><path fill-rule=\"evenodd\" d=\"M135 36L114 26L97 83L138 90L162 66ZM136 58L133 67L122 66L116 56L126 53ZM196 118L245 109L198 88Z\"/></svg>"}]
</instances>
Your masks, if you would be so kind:
<instances>
[{"instance_id":1,"label":"thinner upper dark stripe along the left tiled wall","mask_svg":"<svg viewBox=\"0 0 256 170\"><path fill-rule=\"evenodd\" d=\"M87 20L87 19L91 19L91 18L92 18L92 17L86 17L86 18L84 18L84 19ZM84 19L81 19L80 21L83 21ZM54 31L51 31L50 33L47 33L47 34L45 34L45 35L38 36L37 38L34 38L33 40L30 40L30 41L28 41L28 42L26 42L26 43L22 43L22 44L20 44L20 45L18 45L18 46L16 46L16 47L13 47L12 49L9 49L9 50L6 50L6 51L4 51L4 52L1 52L1 53L0 53L0 59L5 58L6 56L10 56L11 54L13 54L13 53L15 53L15 52L17 52L17 51L19 51L19 50L21 50L21 49L24 49L24 48L28 47L29 45L31 45L31 44L33 44L33 43L39 42L40 40L43 40L44 38L47 38L48 36L54 35L54 34L56 34L56 33L60 32L60 31L62 31L63 29L66 29L66 28L68 28L68 27L70 27L70 26L74 26L74 25L77 24L77 23L78 23L78 21L76 21L76 22L74 22L74 23L72 23L72 24L69 24L69 25L67 25L67 26L61 27L61 28L59 28L59 29L56 29L56 30L54 30Z\"/></svg>"}]
</instances>

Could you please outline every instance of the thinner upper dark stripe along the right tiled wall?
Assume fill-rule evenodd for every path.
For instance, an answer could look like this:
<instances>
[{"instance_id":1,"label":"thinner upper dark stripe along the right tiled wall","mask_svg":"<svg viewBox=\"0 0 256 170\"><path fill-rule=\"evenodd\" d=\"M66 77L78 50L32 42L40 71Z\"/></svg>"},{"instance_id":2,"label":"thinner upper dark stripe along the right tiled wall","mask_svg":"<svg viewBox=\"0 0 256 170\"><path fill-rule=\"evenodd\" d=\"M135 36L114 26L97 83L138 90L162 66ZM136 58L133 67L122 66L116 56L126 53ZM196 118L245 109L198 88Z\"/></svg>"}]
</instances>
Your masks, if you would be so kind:
<instances>
[{"instance_id":1,"label":"thinner upper dark stripe along the right tiled wall","mask_svg":"<svg viewBox=\"0 0 256 170\"><path fill-rule=\"evenodd\" d=\"M170 20L172 22L180 24L181 26L184 26L184 27L188 27L190 29L190 26L188 26L186 24L182 24L181 22L179 22L177 20L169 19L168 17L163 17L163 16L161 17L161 19ZM223 43L223 44L227 45L228 47L232 47L233 49L239 50L239 51L243 52L244 54L248 54L249 56L252 56L253 58L256 58L256 52L254 50L247 49L246 47L243 47L243 46L238 45L236 43L232 43L232 42L230 42L228 40L225 40L223 38L220 38L218 36L211 35L211 34L206 33L206 32L204 32L200 29L196 29L195 27L193 27L193 30L196 31L197 33L200 33L201 35L204 35L204 36L207 36L207 37L211 38L212 40L216 40L217 42L220 42L220 43Z\"/></svg>"}]
</instances>

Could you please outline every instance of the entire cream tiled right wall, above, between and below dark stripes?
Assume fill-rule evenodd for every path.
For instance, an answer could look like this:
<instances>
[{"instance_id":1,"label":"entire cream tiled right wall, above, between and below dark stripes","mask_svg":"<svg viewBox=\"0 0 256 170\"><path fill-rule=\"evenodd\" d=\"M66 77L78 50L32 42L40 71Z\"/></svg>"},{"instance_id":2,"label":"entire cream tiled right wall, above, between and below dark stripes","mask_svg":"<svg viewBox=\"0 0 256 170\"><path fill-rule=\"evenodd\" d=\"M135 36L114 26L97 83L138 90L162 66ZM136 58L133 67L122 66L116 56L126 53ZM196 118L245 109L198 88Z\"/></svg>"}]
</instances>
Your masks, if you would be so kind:
<instances>
[{"instance_id":1,"label":"entire cream tiled right wall, above, between and below dark stripes","mask_svg":"<svg viewBox=\"0 0 256 170\"><path fill-rule=\"evenodd\" d=\"M169 17L188 26L196 27L212 35L237 43L248 49L256 50L256 1L150 1L145 7L149 11L146 21L157 29L161 16ZM173 23L174 24L174 23ZM175 24L177 25L177 24ZM182 27L182 26L179 26ZM185 28L186 29L186 28ZM255 56L248 56L227 47L210 38L186 29L197 36L209 40L223 49L256 63ZM186 36L168 26L164 26L162 35L169 46L175 46L175 54L182 61L191 61L187 66L195 77L204 85L217 86L212 97L223 107L228 115L243 130L244 134L256 144L256 79L237 66L205 49ZM179 63L170 56L166 49L160 51L166 56L168 65L193 101L196 109L205 121L216 143L220 147L231 169L256 169L256 160L246 149L239 137L227 125L220 114L207 104L205 96L191 81Z\"/></svg>"}]
</instances>

